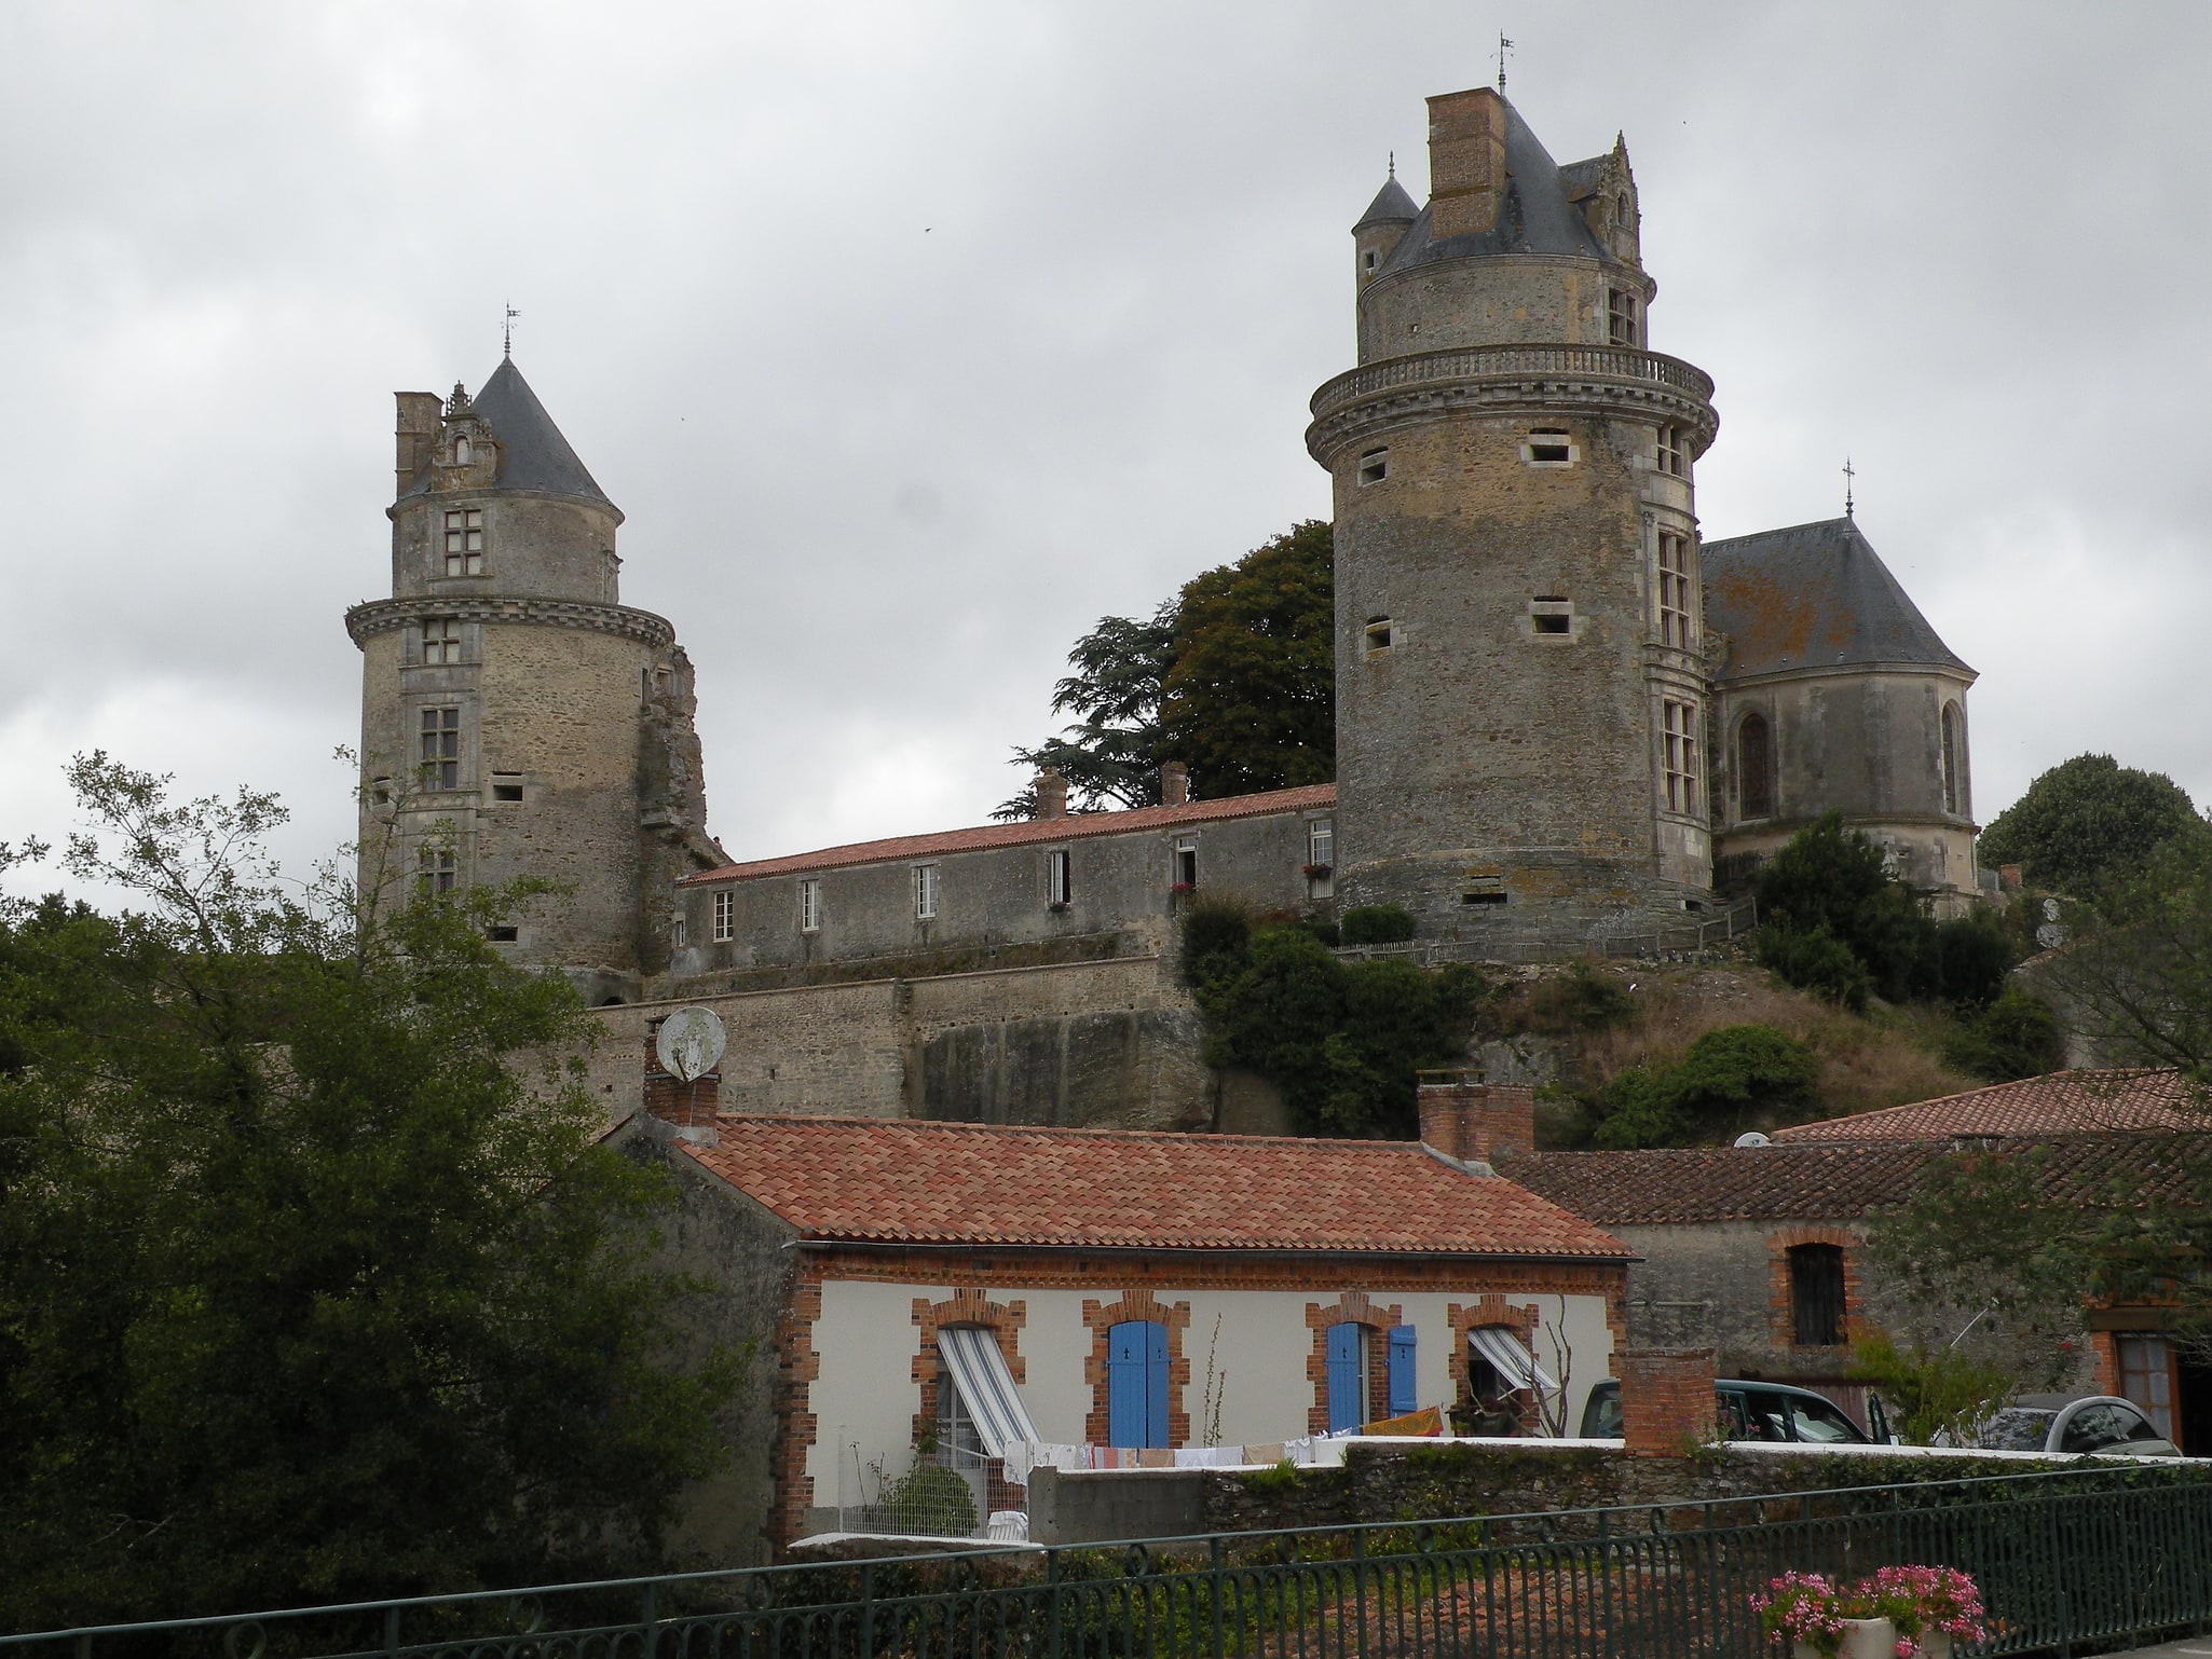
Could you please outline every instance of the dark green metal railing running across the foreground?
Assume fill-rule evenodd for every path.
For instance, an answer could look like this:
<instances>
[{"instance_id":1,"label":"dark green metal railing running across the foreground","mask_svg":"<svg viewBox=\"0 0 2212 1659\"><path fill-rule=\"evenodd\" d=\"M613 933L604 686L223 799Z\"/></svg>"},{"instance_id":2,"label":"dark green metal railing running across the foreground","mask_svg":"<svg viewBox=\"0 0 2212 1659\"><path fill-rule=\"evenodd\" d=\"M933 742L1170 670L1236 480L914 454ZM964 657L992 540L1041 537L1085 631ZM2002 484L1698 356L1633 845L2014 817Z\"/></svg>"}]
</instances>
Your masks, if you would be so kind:
<instances>
[{"instance_id":1,"label":"dark green metal railing running across the foreground","mask_svg":"<svg viewBox=\"0 0 2212 1659\"><path fill-rule=\"evenodd\" d=\"M1982 1652L2212 1619L2212 1471L869 1559L0 1637L0 1659L1754 1659L1785 1568L1958 1566Z\"/></svg>"}]
</instances>

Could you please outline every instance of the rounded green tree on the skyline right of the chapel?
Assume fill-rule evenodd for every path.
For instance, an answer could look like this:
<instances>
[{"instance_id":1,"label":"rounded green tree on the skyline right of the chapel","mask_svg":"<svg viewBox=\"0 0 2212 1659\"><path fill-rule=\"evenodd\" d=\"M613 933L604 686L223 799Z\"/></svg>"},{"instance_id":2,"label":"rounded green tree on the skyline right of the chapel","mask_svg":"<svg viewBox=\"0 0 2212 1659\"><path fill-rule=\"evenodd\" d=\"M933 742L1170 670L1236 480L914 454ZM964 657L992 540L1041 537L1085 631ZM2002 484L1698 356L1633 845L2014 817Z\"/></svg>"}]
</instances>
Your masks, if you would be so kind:
<instances>
[{"instance_id":1,"label":"rounded green tree on the skyline right of the chapel","mask_svg":"<svg viewBox=\"0 0 2212 1659\"><path fill-rule=\"evenodd\" d=\"M2104 876L2139 874L2172 841L2203 843L2212 827L2163 772L2110 754L2077 754L2037 776L1982 832L1980 860L2020 865L2037 887L2086 891Z\"/></svg>"}]
</instances>

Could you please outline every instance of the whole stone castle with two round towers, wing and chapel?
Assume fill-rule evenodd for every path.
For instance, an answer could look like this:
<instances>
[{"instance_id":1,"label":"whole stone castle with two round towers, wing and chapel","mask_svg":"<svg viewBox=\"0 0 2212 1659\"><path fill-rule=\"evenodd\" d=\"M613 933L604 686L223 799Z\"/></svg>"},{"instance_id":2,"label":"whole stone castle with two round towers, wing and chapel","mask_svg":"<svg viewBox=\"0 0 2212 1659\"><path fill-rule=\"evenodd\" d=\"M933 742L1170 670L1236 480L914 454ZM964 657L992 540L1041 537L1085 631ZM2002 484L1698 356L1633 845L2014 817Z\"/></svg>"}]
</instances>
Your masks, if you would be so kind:
<instances>
[{"instance_id":1,"label":"whole stone castle with two round towers, wing and chapel","mask_svg":"<svg viewBox=\"0 0 2212 1659\"><path fill-rule=\"evenodd\" d=\"M622 513L511 361L403 392L392 597L347 613L363 845L427 887L566 883L502 947L628 1035L717 1006L723 1106L991 1121L1245 1121L1170 964L1199 889L1562 960L1697 922L1840 810L1955 914L1973 670L1849 513L1699 538L1712 380L1650 349L1639 223L1621 142L1559 166L1502 93L1429 100L1429 201L1391 177L1358 217L1358 363L1307 429L1338 781L1225 801L1170 765L1161 805L1071 816L1044 776L1026 823L732 863L690 666L617 597Z\"/></svg>"}]
</instances>

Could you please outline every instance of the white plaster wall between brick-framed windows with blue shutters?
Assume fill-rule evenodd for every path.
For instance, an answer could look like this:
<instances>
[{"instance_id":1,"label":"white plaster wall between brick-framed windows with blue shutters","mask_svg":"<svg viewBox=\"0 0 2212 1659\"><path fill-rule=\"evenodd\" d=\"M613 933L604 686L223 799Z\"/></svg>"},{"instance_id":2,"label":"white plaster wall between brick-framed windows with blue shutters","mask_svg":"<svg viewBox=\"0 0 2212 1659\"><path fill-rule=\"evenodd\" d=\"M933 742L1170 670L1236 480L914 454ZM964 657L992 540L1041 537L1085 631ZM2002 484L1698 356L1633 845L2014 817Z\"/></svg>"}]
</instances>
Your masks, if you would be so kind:
<instances>
[{"instance_id":1,"label":"white plaster wall between brick-framed windows with blue shutters","mask_svg":"<svg viewBox=\"0 0 2212 1659\"><path fill-rule=\"evenodd\" d=\"M1305 1305L1334 1303L1345 1290L1363 1285L1329 1285L1314 1290L1175 1290L1155 1287L1168 1307L1190 1303L1190 1325L1183 1332L1183 1356L1190 1360L1190 1385L1183 1409L1190 1411L1192 1440L1206 1436L1206 1360L1212 1352L1221 1389L1221 1440L1267 1442L1303 1436L1314 1405L1314 1385L1305 1374L1314 1352L1314 1332L1305 1323ZM1020 1334L1024 1360L1022 1402L1044 1440L1082 1444L1084 1418L1091 1411L1091 1385L1084 1363L1091 1358L1091 1332L1084 1327L1084 1301L1117 1294L1113 1285L1097 1290L1020 1290L998 1287L995 1303L1026 1303ZM1451 1303L1467 1305L1480 1294L1480 1281L1455 1292L1369 1292L1378 1307L1400 1305L1405 1323L1418 1332L1413 1376L1420 1405L1451 1405ZM816 1444L807 1460L814 1475L814 1502L836 1504L838 1480L845 1500L863 1498L856 1467L883 1460L887 1475L905 1473L914 1458L914 1413L920 1409L920 1387L914 1380L914 1356L920 1352L920 1329L914 1325L914 1298L951 1301L953 1285L872 1283L832 1279L823 1283L823 1314L814 1327L814 1352L821 1374L810 1387L807 1409L816 1420ZM1559 1296L1511 1296L1513 1305L1535 1303L1546 1325L1562 1318ZM1221 1321L1219 1338L1214 1321ZM1599 1296L1566 1296L1564 1323L1573 1347L1568 1376L1568 1431L1582 1422L1582 1402L1590 1385L1613 1374L1613 1334L1606 1329L1606 1305ZM1537 1360L1557 1376L1559 1365L1546 1336L1537 1336ZM1376 1416L1383 1400L1371 1402ZM843 1436L843 1471L838 1440ZM858 1444L858 1453L854 1453ZM869 1475L869 1484L874 1478Z\"/></svg>"}]
</instances>

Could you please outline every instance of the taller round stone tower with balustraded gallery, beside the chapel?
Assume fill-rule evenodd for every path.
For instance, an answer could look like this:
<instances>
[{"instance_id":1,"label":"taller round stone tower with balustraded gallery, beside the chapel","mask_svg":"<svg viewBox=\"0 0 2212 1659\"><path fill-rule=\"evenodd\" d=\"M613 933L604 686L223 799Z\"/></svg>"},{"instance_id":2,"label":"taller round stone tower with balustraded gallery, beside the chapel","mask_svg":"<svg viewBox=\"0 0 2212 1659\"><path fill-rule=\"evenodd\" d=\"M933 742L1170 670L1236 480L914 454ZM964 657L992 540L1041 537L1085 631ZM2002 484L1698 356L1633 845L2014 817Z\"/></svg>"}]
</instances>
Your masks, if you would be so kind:
<instances>
[{"instance_id":1,"label":"taller round stone tower with balustraded gallery, beside the chapel","mask_svg":"<svg viewBox=\"0 0 2212 1659\"><path fill-rule=\"evenodd\" d=\"M1690 467L1712 380L1648 349L1628 150L1559 166L1429 100L1429 204L1354 228L1336 495L1338 891L1422 938L1573 949L1712 889Z\"/></svg>"}]
</instances>

